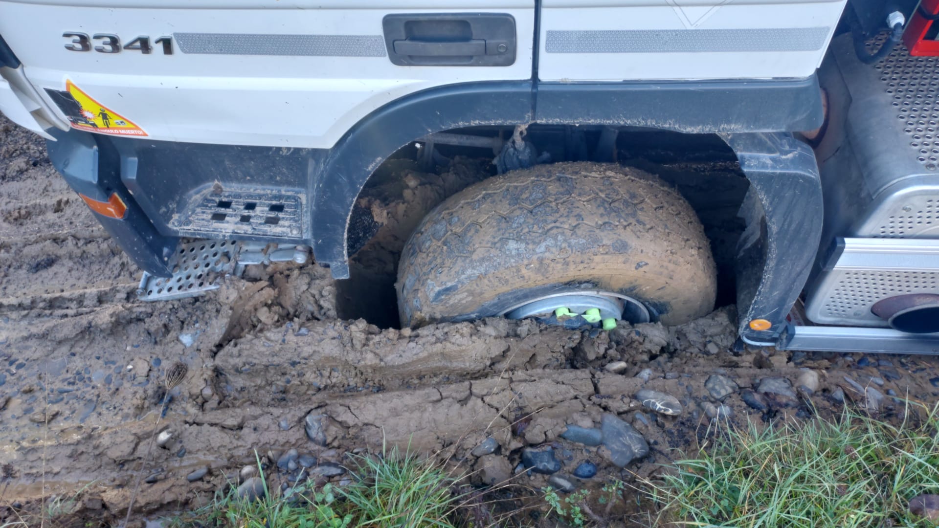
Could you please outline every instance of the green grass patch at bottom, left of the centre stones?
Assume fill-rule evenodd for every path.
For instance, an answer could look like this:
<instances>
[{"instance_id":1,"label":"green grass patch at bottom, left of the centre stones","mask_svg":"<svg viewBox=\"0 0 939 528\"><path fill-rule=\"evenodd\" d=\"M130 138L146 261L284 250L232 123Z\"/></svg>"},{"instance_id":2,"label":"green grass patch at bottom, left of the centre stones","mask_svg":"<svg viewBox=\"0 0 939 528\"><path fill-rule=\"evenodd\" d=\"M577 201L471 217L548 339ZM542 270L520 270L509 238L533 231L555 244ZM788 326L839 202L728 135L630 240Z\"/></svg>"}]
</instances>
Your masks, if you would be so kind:
<instances>
[{"instance_id":1,"label":"green grass patch at bottom, left of the centre stones","mask_svg":"<svg viewBox=\"0 0 939 528\"><path fill-rule=\"evenodd\" d=\"M272 492L277 486L261 472L263 499L239 499L236 489L216 494L212 504L170 520L173 528L455 528L460 497L456 478L432 461L400 455L396 449L380 458L358 458L352 482L344 487L312 483ZM259 464L260 465L260 464Z\"/></svg>"}]
</instances>

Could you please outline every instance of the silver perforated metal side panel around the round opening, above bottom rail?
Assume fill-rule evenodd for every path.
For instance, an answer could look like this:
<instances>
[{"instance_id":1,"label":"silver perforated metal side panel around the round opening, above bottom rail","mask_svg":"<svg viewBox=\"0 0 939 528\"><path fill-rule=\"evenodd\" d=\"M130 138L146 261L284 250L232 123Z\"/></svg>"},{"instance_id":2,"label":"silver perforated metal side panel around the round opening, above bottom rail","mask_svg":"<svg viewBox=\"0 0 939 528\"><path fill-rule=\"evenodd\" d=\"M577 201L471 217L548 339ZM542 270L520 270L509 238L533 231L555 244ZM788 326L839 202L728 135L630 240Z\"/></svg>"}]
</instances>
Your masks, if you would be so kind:
<instances>
[{"instance_id":1,"label":"silver perforated metal side panel around the round opening, above bottom rail","mask_svg":"<svg viewBox=\"0 0 939 528\"><path fill-rule=\"evenodd\" d=\"M828 262L808 288L806 316L815 323L885 328L874 303L939 293L939 240L839 239Z\"/></svg>"}]
</instances>

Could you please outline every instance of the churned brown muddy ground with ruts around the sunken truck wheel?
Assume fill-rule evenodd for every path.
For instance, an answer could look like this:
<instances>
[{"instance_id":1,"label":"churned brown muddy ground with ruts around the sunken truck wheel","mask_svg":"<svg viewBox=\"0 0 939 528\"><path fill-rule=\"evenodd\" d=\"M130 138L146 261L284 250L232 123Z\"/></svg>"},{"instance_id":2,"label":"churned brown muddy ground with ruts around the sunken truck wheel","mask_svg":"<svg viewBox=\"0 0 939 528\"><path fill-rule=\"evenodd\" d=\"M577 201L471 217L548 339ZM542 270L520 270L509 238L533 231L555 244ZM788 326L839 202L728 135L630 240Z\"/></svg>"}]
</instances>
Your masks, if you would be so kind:
<instances>
[{"instance_id":1,"label":"churned brown muddy ground with ruts around the sunken truck wheel","mask_svg":"<svg viewBox=\"0 0 939 528\"><path fill-rule=\"evenodd\" d=\"M380 203L363 198L389 243L366 245L359 264L387 262L382 252L400 248L423 210L485 174L481 164L467 166L447 178L408 168L408 183L381 188ZM85 486L77 515L116 523L155 430L172 437L148 456L138 520L205 504L254 464L255 450L276 459L297 448L328 465L398 445L447 460L474 483L511 477L540 488L546 475L512 476L513 468L523 447L550 446L562 474L598 489L610 476L650 475L696 449L710 423L703 404L717 403L705 387L714 374L738 385L723 400L736 425L831 416L841 392L863 405L845 376L882 393L939 396L932 358L734 354L732 307L681 327L623 324L610 333L502 319L381 330L340 318L348 303L337 299L356 288L316 265L253 268L202 298L140 303L132 293L140 272L55 175L41 141L6 121L0 198L0 524L35 511L42 496ZM420 205L404 209L403 201ZM362 284L393 272L372 270L358 268ZM163 380L177 362L188 373L167 396ZM765 410L745 403L763 378L794 386L801 367L819 374L813 394L757 396ZM676 396L684 412L642 408L633 397L642 388ZM879 405L885 415L901 409L889 397ZM311 412L316 442L304 430ZM650 454L621 470L602 450L559 437L569 424L599 427L604 413L633 424ZM488 436L495 453L471 455ZM583 460L599 467L595 477L570 476ZM208 474L187 480L205 467Z\"/></svg>"}]
</instances>

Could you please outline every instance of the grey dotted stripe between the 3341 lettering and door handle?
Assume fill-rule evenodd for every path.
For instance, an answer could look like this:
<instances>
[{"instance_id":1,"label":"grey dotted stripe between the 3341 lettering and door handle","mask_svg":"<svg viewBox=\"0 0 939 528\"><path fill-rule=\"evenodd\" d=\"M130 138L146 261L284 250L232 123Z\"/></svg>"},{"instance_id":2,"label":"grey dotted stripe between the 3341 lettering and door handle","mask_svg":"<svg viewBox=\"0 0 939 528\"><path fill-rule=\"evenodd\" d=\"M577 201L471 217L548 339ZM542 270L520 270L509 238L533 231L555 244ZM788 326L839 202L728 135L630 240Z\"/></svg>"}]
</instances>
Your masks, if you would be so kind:
<instances>
[{"instance_id":1,"label":"grey dotted stripe between the 3341 lettering and door handle","mask_svg":"<svg viewBox=\"0 0 939 528\"><path fill-rule=\"evenodd\" d=\"M380 35L174 33L173 38L184 54L385 56Z\"/></svg>"}]
</instances>

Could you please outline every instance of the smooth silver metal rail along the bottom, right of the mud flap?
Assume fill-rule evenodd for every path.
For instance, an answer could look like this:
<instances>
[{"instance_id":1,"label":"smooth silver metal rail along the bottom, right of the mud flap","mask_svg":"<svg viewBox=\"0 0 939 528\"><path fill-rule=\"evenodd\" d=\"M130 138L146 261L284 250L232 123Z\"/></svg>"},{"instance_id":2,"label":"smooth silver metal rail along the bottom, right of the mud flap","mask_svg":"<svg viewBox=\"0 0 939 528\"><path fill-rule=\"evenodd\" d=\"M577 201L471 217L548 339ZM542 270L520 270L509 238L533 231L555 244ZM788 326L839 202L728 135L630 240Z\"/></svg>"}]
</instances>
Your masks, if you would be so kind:
<instances>
[{"instance_id":1,"label":"smooth silver metal rail along the bottom, right of the mud flap","mask_svg":"<svg viewBox=\"0 0 939 528\"><path fill-rule=\"evenodd\" d=\"M891 328L791 326L777 348L939 355L939 334L905 334Z\"/></svg>"}]
</instances>

